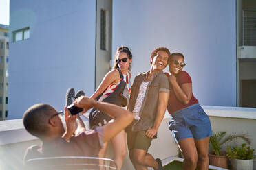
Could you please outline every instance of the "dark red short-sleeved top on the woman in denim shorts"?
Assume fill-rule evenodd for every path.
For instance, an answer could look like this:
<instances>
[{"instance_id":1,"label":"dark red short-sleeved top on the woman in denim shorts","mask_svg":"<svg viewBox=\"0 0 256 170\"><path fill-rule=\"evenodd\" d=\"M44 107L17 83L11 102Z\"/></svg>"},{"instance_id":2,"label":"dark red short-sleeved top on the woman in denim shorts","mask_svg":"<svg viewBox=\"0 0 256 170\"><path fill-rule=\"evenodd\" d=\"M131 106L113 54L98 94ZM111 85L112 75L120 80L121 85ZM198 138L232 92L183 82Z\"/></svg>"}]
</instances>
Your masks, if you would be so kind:
<instances>
[{"instance_id":1,"label":"dark red short-sleeved top on the woman in denim shorts","mask_svg":"<svg viewBox=\"0 0 256 170\"><path fill-rule=\"evenodd\" d=\"M191 77L189 76L188 73L186 73L186 71L180 71L180 73L178 73L176 79L177 79L179 86L181 86L182 84L185 84L185 83L192 83ZM193 104L198 104L198 99L195 98L193 93L192 93L192 97L189 101L189 104L184 105L176 98L175 93L173 92L173 88L171 87L171 84L170 84L169 101L168 101L168 106L167 106L167 110L168 110L169 114L176 112L178 110L181 110L182 108L191 106Z\"/></svg>"}]
</instances>

